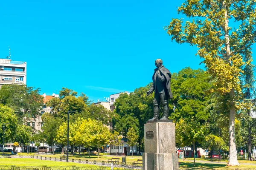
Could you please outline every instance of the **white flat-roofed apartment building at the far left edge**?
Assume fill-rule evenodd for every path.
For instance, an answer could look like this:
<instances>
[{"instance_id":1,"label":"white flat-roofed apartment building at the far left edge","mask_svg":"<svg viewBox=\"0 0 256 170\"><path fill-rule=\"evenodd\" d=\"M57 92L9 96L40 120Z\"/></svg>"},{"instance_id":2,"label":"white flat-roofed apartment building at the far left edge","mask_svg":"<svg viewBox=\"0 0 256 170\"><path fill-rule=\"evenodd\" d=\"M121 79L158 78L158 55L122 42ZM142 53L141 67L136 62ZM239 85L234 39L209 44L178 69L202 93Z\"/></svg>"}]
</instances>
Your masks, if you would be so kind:
<instances>
[{"instance_id":1,"label":"white flat-roofed apartment building at the far left edge","mask_svg":"<svg viewBox=\"0 0 256 170\"><path fill-rule=\"evenodd\" d=\"M0 88L11 84L26 84L26 62L0 59Z\"/></svg>"}]
</instances>

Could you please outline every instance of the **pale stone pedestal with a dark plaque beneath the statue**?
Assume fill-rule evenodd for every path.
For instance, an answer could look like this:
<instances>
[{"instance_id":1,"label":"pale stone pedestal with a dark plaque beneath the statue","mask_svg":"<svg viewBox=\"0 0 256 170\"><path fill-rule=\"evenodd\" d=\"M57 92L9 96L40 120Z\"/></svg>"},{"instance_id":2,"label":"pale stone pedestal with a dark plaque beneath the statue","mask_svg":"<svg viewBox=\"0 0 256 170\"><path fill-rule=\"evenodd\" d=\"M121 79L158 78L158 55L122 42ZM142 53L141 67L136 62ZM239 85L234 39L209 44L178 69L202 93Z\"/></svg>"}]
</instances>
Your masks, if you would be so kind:
<instances>
[{"instance_id":1,"label":"pale stone pedestal with a dark plaque beneath the statue","mask_svg":"<svg viewBox=\"0 0 256 170\"><path fill-rule=\"evenodd\" d=\"M175 124L158 120L144 124L143 170L178 170L175 153Z\"/></svg>"}]
</instances>

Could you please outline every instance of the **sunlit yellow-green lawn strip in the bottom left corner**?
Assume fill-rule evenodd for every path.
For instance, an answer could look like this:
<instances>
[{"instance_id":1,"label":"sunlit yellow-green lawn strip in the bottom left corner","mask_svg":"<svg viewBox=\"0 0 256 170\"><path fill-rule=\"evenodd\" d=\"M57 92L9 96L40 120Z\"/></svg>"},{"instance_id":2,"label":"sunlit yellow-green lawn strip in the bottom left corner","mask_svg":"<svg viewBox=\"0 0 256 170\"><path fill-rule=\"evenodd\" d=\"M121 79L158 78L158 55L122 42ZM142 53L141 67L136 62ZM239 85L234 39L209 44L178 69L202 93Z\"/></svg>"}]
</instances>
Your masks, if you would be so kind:
<instances>
[{"instance_id":1,"label":"sunlit yellow-green lawn strip in the bottom left corner","mask_svg":"<svg viewBox=\"0 0 256 170\"><path fill-rule=\"evenodd\" d=\"M0 158L1 165L16 165L16 166L72 166L76 165L79 167L93 167L90 164L79 164L73 162L64 161L45 161L40 159L30 159L30 158Z\"/></svg>"}]
</instances>

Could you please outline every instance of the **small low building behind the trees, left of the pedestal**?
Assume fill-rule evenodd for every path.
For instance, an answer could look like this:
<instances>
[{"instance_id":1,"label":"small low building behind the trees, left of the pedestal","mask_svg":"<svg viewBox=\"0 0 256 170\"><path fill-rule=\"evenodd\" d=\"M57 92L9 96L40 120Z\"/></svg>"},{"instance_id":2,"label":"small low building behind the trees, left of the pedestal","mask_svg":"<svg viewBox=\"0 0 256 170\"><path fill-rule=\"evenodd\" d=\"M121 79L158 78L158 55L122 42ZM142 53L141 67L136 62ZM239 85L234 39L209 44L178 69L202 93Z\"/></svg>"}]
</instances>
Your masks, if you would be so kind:
<instances>
[{"instance_id":1,"label":"small low building behind the trees, left of the pedestal","mask_svg":"<svg viewBox=\"0 0 256 170\"><path fill-rule=\"evenodd\" d=\"M137 146L128 146L127 138L122 138L119 146L115 146L112 143L110 144L110 155L128 156L132 155L132 150L134 155L137 155Z\"/></svg>"}]
</instances>

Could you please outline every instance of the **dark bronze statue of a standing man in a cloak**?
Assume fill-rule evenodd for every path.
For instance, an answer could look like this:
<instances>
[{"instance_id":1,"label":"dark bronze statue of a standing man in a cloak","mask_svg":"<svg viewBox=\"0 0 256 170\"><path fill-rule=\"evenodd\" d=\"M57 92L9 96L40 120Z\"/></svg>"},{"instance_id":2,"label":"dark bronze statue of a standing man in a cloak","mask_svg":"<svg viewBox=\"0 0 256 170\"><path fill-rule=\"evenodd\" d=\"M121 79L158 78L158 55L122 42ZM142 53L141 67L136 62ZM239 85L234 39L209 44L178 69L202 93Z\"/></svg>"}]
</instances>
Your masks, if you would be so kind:
<instances>
[{"instance_id":1,"label":"dark bronze statue of a standing man in a cloak","mask_svg":"<svg viewBox=\"0 0 256 170\"><path fill-rule=\"evenodd\" d=\"M155 61L156 69L154 69L153 74L153 84L151 85L149 91L147 91L147 96L153 91L154 94L154 117L149 119L148 121L158 120L159 115L159 106L160 102L163 105L163 117L161 120L167 120L169 116L169 106L168 106L168 99L172 98L172 91L171 91L171 72L163 66L162 59L156 59Z\"/></svg>"}]
</instances>

